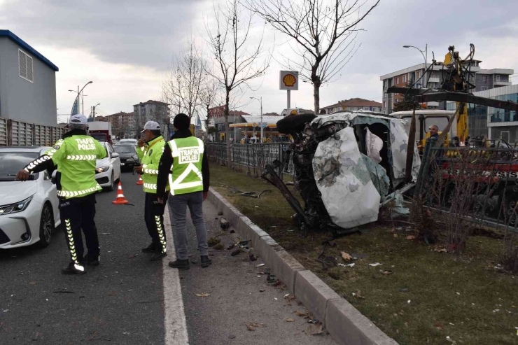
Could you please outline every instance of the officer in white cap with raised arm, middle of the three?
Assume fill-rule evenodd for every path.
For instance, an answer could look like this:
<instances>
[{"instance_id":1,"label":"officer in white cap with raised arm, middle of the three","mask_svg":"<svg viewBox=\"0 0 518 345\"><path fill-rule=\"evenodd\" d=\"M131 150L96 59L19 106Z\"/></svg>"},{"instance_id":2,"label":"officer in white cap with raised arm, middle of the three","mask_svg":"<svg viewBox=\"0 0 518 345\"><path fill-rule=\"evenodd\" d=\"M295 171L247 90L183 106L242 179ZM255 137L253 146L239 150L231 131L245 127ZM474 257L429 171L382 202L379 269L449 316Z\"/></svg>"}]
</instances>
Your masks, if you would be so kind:
<instances>
[{"instance_id":1,"label":"officer in white cap with raised arm, middle of the three","mask_svg":"<svg viewBox=\"0 0 518 345\"><path fill-rule=\"evenodd\" d=\"M144 192L146 192L146 202L144 208L144 220L148 227L149 236L151 236L151 244L143 248L144 253L153 253L151 260L160 260L164 258L166 253L166 237L164 231L164 211L165 202L167 202L167 194L165 202L159 203L157 199L157 176L158 164L160 157L164 153L165 140L160 134L160 125L154 121L146 122L144 125L144 140L138 142L139 149L137 155L141 165L135 168L139 174L142 174L144 181ZM169 185L165 185L164 190L169 190Z\"/></svg>"}]
</instances>

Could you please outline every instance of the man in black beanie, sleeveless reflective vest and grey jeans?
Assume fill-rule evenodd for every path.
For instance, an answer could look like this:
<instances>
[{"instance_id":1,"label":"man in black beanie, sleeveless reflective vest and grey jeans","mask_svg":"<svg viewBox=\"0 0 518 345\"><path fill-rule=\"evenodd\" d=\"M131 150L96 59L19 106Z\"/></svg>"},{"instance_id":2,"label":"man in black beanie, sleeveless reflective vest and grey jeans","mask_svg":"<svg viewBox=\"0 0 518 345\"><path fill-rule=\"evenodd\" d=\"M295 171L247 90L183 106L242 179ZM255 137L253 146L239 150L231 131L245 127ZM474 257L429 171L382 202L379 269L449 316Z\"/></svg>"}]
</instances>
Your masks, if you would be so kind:
<instances>
[{"instance_id":1,"label":"man in black beanie, sleeveless reflective vest and grey jeans","mask_svg":"<svg viewBox=\"0 0 518 345\"><path fill-rule=\"evenodd\" d=\"M209 193L209 162L203 154L203 141L197 139L189 130L190 118L178 114L173 120L174 136L165 147L158 167L157 195L159 202L167 200L167 178L172 197L169 199L176 231L177 260L169 262L169 267L189 269L187 251L186 208L189 206L190 218L196 228L198 251L202 267L209 267L209 246L207 228L203 219L202 204Z\"/></svg>"}]
</instances>

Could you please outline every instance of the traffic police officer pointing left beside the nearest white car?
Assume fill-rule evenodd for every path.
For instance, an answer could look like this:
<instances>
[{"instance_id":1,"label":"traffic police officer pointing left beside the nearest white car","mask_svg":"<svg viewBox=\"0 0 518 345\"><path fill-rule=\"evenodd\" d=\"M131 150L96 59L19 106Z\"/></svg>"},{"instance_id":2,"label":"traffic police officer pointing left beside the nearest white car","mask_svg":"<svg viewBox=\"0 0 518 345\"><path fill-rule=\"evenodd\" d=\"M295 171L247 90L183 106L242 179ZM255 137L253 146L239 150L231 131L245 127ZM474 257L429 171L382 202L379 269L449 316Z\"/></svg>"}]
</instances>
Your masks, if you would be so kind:
<instances>
[{"instance_id":1,"label":"traffic police officer pointing left beside the nearest white car","mask_svg":"<svg viewBox=\"0 0 518 345\"><path fill-rule=\"evenodd\" d=\"M66 232L71 262L62 269L64 274L85 274L84 264L99 265L99 239L95 227L95 193L102 190L95 181L96 160L106 157L106 148L86 133L85 115L72 115L70 131L55 146L20 170L16 178L27 181L29 174L57 166L56 185L59 213ZM88 254L84 248L81 229L85 234Z\"/></svg>"}]
</instances>

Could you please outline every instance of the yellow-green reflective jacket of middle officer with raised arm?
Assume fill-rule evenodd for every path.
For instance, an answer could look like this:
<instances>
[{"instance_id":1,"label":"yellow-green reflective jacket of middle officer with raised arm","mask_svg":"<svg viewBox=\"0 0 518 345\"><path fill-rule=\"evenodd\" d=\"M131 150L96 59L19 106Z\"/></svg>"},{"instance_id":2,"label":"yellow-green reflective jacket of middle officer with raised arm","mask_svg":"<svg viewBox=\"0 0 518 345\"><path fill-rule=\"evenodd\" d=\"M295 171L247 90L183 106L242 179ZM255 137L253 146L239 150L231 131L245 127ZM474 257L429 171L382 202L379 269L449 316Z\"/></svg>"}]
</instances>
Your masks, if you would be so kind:
<instances>
[{"instance_id":1,"label":"yellow-green reflective jacket of middle officer with raised arm","mask_svg":"<svg viewBox=\"0 0 518 345\"><path fill-rule=\"evenodd\" d=\"M144 181L144 192L157 193L158 164L162 153L164 153L165 140L162 136L157 136L149 141L146 146L137 148L137 155L142 164L142 181ZM169 190L167 186L166 190Z\"/></svg>"}]
</instances>

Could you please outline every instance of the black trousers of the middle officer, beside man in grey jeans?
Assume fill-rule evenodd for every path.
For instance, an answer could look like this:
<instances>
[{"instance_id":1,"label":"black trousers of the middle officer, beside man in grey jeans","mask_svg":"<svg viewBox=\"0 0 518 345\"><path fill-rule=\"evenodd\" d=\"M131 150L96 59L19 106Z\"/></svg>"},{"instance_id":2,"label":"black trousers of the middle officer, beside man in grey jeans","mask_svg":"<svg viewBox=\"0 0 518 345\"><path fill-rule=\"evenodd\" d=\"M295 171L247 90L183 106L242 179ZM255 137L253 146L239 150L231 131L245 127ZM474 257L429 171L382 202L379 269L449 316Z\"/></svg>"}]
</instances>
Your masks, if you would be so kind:
<instances>
[{"instance_id":1,"label":"black trousers of the middle officer, beside man in grey jeans","mask_svg":"<svg viewBox=\"0 0 518 345\"><path fill-rule=\"evenodd\" d=\"M168 196L165 195L164 203L160 204L156 194L146 193L144 220L146 221L146 227L148 227L149 236L153 239L155 252L158 253L165 253L167 248L164 230L164 211Z\"/></svg>"}]
</instances>

